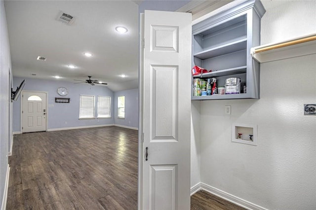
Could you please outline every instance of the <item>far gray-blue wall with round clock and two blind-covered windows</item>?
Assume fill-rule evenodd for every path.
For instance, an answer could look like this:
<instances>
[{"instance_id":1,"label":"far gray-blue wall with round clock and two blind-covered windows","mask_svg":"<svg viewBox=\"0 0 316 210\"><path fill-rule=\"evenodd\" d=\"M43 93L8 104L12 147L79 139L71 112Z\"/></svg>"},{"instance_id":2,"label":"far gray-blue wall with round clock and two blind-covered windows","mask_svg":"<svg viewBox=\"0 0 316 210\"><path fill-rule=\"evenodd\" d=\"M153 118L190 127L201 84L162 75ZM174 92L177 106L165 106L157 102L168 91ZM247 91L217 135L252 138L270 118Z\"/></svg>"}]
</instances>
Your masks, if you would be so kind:
<instances>
[{"instance_id":1,"label":"far gray-blue wall with round clock and two blind-covered windows","mask_svg":"<svg viewBox=\"0 0 316 210\"><path fill-rule=\"evenodd\" d=\"M62 80L43 80L13 77L13 86L19 84L26 79L23 91L43 91L47 92L47 129L59 129L69 127L84 127L114 124L114 93L105 86L89 84L74 84L73 82L65 82ZM69 94L61 97L57 94L58 87L66 87ZM80 119L79 120L79 96L94 95L97 103L98 96L111 97L111 118L100 119ZM55 103L55 97L70 98L70 103ZM95 108L95 116L97 116L97 105ZM67 124L66 124L67 122ZM13 103L13 132L21 131L21 97Z\"/></svg>"}]
</instances>

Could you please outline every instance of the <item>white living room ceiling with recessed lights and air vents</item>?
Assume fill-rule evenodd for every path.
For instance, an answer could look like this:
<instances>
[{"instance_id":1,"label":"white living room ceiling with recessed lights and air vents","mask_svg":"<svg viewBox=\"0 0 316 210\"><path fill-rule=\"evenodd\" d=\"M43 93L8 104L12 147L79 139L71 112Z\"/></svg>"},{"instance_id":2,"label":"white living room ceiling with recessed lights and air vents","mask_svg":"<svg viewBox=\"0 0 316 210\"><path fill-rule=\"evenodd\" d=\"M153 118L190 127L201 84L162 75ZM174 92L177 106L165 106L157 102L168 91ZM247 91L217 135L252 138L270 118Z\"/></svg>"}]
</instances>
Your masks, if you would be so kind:
<instances>
[{"instance_id":1,"label":"white living room ceiling with recessed lights and air vents","mask_svg":"<svg viewBox=\"0 0 316 210\"><path fill-rule=\"evenodd\" d=\"M39 79L56 79L54 76L59 75L59 80L70 82L90 75L108 83L112 91L138 88L136 2L6 0L13 75ZM57 21L60 11L74 16L74 23ZM128 32L118 34L116 26L124 26ZM93 56L84 57L84 52ZM47 60L38 61L38 56ZM69 64L77 68L70 69Z\"/></svg>"}]
</instances>

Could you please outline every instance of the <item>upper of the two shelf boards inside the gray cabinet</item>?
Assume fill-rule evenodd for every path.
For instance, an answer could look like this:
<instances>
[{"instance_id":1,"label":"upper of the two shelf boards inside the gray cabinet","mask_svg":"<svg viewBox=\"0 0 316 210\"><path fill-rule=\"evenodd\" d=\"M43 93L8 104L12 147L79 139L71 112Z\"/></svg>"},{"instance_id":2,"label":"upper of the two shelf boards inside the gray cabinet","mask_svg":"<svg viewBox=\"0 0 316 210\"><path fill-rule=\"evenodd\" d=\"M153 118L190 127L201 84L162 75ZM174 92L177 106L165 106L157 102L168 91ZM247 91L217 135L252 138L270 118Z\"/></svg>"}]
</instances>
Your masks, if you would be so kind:
<instances>
[{"instance_id":1,"label":"upper of the two shelf boards inside the gray cabinet","mask_svg":"<svg viewBox=\"0 0 316 210\"><path fill-rule=\"evenodd\" d=\"M228 53L244 50L247 47L247 38L243 38L234 42L223 44L208 50L204 50L194 55L194 57L201 60L225 55Z\"/></svg>"}]
</instances>

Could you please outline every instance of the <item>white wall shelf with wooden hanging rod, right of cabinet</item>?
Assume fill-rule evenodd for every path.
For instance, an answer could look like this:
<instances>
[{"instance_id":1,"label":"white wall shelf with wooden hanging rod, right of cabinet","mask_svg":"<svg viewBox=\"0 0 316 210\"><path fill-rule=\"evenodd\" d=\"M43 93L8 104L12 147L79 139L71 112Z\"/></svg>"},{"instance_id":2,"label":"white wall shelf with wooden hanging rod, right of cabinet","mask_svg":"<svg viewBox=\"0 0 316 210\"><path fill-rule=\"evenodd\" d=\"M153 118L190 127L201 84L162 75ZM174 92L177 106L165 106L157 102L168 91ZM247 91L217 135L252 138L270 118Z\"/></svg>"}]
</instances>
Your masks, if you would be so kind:
<instances>
[{"instance_id":1,"label":"white wall shelf with wooden hanging rod, right of cabinet","mask_svg":"<svg viewBox=\"0 0 316 210\"><path fill-rule=\"evenodd\" d=\"M252 47L253 59L259 63L277 61L316 53L316 34L294 39Z\"/></svg>"}]
</instances>

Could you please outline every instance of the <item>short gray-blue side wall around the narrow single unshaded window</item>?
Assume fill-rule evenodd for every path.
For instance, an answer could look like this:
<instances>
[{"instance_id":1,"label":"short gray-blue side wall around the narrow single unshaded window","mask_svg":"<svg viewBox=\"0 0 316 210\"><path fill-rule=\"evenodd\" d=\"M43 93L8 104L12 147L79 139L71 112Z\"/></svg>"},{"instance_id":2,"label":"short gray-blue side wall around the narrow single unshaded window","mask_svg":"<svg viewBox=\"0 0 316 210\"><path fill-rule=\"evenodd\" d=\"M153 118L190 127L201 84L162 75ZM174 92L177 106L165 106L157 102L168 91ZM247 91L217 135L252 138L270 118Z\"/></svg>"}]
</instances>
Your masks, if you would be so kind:
<instances>
[{"instance_id":1,"label":"short gray-blue side wall around the narrow single unshaded window","mask_svg":"<svg viewBox=\"0 0 316 210\"><path fill-rule=\"evenodd\" d=\"M118 118L118 97L125 96L125 118ZM114 93L114 123L138 129L138 89L122 90Z\"/></svg>"}]
</instances>

